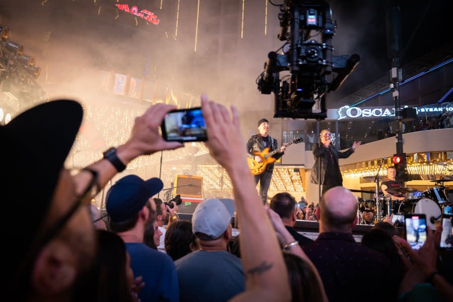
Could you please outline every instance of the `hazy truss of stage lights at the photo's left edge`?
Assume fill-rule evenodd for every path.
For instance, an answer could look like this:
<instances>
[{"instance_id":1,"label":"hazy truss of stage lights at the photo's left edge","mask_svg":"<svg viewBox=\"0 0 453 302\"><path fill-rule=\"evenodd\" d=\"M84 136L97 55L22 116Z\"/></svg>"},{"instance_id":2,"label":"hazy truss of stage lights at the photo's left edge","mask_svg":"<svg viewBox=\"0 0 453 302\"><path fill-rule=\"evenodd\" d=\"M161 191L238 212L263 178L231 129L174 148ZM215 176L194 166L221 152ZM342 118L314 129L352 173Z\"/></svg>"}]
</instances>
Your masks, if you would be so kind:
<instances>
[{"instance_id":1,"label":"hazy truss of stage lights at the photo's left edge","mask_svg":"<svg viewBox=\"0 0 453 302\"><path fill-rule=\"evenodd\" d=\"M43 90L36 83L41 68L36 66L33 56L24 54L24 46L10 40L11 34L7 27L0 27L0 83L4 87L15 85L19 91L29 95L43 97ZM8 83L4 83L8 82Z\"/></svg>"}]
</instances>

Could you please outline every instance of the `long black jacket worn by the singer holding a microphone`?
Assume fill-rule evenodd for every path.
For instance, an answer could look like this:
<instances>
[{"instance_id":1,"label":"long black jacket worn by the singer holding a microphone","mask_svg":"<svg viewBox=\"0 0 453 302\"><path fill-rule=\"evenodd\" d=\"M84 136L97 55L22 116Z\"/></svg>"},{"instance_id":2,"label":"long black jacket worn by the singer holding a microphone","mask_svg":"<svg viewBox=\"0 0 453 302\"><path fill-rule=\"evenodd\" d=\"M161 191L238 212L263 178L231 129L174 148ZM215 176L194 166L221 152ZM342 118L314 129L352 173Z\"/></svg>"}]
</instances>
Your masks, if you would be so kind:
<instances>
[{"instance_id":1,"label":"long black jacket worn by the singer holding a microphone","mask_svg":"<svg viewBox=\"0 0 453 302\"><path fill-rule=\"evenodd\" d=\"M333 145L330 145L329 149L332 151L337 163L338 163L338 159L346 159L351 154L354 153L354 149L352 147L350 147L349 149L347 149L346 151L343 151L343 152L335 149L335 147ZM319 142L319 143L315 143L313 145L313 156L315 157L315 165L313 165L310 182L312 184L318 184L318 165L319 165L319 159L321 159L321 184L323 184L324 178L326 175L327 161L329 159L328 157L330 156L329 152L327 151L327 148L321 142ZM338 171L336 171L335 175L339 175L339 177L340 177L339 183L342 184L343 177L341 177L341 172L340 172L340 169L338 168L338 165L337 165L337 169L338 169Z\"/></svg>"}]
</instances>

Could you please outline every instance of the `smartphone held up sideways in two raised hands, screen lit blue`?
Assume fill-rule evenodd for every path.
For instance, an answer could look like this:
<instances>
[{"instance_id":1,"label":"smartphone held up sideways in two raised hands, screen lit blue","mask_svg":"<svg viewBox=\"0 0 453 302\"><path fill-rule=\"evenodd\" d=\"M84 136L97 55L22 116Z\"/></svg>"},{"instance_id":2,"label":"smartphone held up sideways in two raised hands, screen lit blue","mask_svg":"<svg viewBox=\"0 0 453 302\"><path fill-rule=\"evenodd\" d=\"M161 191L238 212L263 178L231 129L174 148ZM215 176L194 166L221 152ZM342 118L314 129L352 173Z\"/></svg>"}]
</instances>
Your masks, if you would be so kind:
<instances>
[{"instance_id":1,"label":"smartphone held up sideways in two raised hands, screen lit blue","mask_svg":"<svg viewBox=\"0 0 453 302\"><path fill-rule=\"evenodd\" d=\"M161 125L162 137L167 141L206 141L206 123L201 108L172 110Z\"/></svg>"}]
</instances>

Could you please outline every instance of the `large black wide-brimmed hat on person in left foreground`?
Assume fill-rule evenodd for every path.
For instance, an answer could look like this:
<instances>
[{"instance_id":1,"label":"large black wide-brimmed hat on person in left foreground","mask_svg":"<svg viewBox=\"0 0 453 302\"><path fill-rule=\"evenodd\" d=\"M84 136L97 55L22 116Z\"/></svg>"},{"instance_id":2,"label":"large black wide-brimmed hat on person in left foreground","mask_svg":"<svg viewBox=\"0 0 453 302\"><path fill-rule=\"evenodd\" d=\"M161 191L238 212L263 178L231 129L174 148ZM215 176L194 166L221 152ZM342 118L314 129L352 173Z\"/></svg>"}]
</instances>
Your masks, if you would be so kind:
<instances>
[{"instance_id":1,"label":"large black wide-brimmed hat on person in left foreground","mask_svg":"<svg viewBox=\"0 0 453 302\"><path fill-rule=\"evenodd\" d=\"M0 183L7 213L2 219L2 232L5 242L11 244L7 266L12 269L29 252L42 229L82 117L78 102L56 100L28 109L0 126Z\"/></svg>"}]
</instances>

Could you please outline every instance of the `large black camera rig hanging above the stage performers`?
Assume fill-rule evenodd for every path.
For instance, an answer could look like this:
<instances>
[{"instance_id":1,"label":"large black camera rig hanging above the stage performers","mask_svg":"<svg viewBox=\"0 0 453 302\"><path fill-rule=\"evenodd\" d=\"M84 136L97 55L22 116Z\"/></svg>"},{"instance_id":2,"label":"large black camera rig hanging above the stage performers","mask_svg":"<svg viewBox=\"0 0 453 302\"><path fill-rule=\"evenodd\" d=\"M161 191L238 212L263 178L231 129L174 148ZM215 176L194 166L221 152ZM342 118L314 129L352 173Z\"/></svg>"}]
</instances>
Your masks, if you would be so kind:
<instances>
[{"instance_id":1,"label":"large black camera rig hanging above the stage performers","mask_svg":"<svg viewBox=\"0 0 453 302\"><path fill-rule=\"evenodd\" d=\"M360 56L332 55L337 26L327 2L284 0L279 6L277 37L286 43L280 48L281 54L269 52L264 72L257 79L258 90L262 94L274 93L274 117L323 120L327 117L326 94L341 87ZM312 31L317 34L312 36ZM284 70L290 74L280 80ZM285 81L286 77L289 81ZM317 102L319 109L314 112Z\"/></svg>"}]
</instances>

